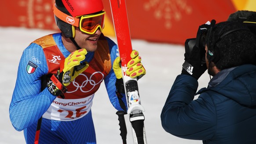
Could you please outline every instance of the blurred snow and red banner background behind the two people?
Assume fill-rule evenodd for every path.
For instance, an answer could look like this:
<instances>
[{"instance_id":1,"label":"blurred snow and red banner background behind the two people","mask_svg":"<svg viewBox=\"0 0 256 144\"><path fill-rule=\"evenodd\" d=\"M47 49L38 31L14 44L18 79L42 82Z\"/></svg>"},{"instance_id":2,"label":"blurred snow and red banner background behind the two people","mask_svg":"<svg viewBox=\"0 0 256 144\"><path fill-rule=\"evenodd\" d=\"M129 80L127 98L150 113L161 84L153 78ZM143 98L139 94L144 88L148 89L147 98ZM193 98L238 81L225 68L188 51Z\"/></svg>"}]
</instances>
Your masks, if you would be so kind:
<instances>
[{"instance_id":1,"label":"blurred snow and red banner background behind the two people","mask_svg":"<svg viewBox=\"0 0 256 144\"><path fill-rule=\"evenodd\" d=\"M103 33L115 41L109 0L102 0L107 12ZM52 12L54 0L1 0L0 4L0 144L25 144L23 132L9 119L9 105L22 51L33 40L59 32ZM202 144L163 130L160 114L184 62L184 42L196 37L199 25L216 19L226 21L238 10L256 11L256 0L126 0L132 47L143 58L146 75L138 81L145 108L148 144ZM209 82L207 72L198 79L198 89ZM195 97L197 98L197 97ZM121 144L116 110L110 104L104 84L92 106L98 144ZM128 115L128 144L132 144Z\"/></svg>"}]
</instances>

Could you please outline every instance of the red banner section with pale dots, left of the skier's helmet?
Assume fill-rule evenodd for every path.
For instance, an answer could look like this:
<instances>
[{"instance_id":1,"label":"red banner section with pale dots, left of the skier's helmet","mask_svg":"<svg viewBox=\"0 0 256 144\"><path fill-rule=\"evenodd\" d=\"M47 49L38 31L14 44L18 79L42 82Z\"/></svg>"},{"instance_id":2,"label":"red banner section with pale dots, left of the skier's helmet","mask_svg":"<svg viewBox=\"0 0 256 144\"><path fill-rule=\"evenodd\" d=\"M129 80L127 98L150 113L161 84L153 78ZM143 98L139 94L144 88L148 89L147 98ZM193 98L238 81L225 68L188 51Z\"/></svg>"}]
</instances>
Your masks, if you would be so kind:
<instances>
[{"instance_id":1,"label":"red banner section with pale dots, left of the skier's helmet","mask_svg":"<svg viewBox=\"0 0 256 144\"><path fill-rule=\"evenodd\" d=\"M57 29L52 6L55 0L4 0L0 26Z\"/></svg>"}]
</instances>

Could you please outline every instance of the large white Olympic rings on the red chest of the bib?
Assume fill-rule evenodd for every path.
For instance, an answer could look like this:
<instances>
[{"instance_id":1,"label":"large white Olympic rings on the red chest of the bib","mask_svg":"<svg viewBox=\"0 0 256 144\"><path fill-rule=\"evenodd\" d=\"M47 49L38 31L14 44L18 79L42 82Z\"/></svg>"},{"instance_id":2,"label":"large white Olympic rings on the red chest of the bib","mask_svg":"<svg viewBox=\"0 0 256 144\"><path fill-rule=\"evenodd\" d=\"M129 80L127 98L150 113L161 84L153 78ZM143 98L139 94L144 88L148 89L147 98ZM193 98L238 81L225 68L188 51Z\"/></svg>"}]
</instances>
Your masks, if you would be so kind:
<instances>
[{"instance_id":1,"label":"large white Olympic rings on the red chest of the bib","mask_svg":"<svg viewBox=\"0 0 256 144\"><path fill-rule=\"evenodd\" d=\"M99 74L99 76L102 76L102 78L99 80L99 82L95 82L95 80L92 79L93 76L95 76L96 74ZM67 91L66 93L73 93L73 92L76 92L78 89L81 90L81 92L83 93L87 93L91 90L93 90L93 88L98 85L99 83L101 83L103 81L103 78L104 78L104 74L102 72L94 72L91 74L90 78L88 78L88 76L84 75L83 73L80 74L79 76L77 76L77 78L79 77L79 79L81 79L81 76L84 76L85 80L84 82L81 84L81 86L79 85L79 83L76 82L76 79L73 80L73 82L71 82L70 84L73 84L73 86L76 87L75 90L73 91ZM85 86L89 87L88 85L92 86L90 90L88 91L84 91L83 88Z\"/></svg>"}]
</instances>

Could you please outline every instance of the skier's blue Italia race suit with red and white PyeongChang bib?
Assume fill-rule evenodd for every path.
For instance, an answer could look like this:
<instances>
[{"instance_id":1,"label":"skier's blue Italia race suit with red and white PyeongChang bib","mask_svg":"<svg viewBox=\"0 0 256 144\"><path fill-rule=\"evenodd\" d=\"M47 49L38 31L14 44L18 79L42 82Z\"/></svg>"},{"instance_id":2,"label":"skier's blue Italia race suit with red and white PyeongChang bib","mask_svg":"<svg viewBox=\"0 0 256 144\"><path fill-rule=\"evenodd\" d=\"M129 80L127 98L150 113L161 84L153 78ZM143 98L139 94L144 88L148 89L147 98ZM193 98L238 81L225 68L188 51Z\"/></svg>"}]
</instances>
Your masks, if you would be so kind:
<instances>
[{"instance_id":1,"label":"skier's blue Italia race suit with red and white PyeongChang bib","mask_svg":"<svg viewBox=\"0 0 256 144\"><path fill-rule=\"evenodd\" d=\"M60 61L69 54L61 33L35 40L23 51L9 112L14 128L24 130L27 144L34 143L41 116L40 144L95 144L91 105L103 80L114 108L123 110L116 96L112 68L119 55L117 45L103 34L97 50L86 54L89 67L67 86L65 99L52 95L47 87L41 90L45 80L41 77L56 74ZM127 108L126 97L121 99Z\"/></svg>"}]
</instances>

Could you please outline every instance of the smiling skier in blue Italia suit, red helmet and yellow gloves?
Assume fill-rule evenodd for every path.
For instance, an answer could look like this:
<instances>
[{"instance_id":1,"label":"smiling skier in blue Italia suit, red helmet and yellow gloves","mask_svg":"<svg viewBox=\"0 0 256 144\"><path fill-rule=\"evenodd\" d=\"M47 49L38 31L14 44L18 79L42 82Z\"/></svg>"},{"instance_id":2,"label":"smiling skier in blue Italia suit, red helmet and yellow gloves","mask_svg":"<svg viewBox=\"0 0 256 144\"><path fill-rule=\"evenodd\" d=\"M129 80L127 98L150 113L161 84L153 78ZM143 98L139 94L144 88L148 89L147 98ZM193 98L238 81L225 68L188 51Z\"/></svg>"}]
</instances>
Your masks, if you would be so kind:
<instances>
[{"instance_id":1,"label":"smiling skier in blue Italia suit, red helmet and yellow gloves","mask_svg":"<svg viewBox=\"0 0 256 144\"><path fill-rule=\"evenodd\" d=\"M102 34L102 10L101 0L55 0L61 32L23 51L9 112L27 144L95 144L91 105L103 80L114 108L127 111L121 60L117 45ZM138 51L131 58L126 73L139 79L146 71Z\"/></svg>"}]
</instances>

